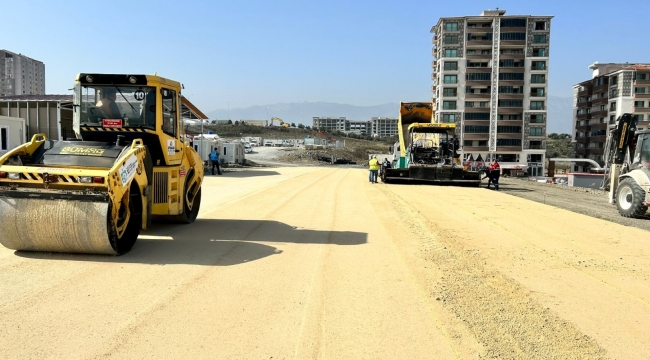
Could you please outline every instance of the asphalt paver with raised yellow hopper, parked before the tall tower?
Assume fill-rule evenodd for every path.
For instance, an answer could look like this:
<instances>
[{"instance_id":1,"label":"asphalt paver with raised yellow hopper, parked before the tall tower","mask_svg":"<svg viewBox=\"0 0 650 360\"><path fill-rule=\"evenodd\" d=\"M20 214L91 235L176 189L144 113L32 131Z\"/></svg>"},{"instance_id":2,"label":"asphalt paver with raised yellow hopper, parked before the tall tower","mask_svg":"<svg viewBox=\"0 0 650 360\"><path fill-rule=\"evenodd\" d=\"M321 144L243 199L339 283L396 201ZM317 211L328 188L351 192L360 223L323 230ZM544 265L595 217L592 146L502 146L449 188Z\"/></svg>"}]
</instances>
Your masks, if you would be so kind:
<instances>
[{"instance_id":1,"label":"asphalt paver with raised yellow hopper, parked before the tall tower","mask_svg":"<svg viewBox=\"0 0 650 360\"><path fill-rule=\"evenodd\" d=\"M400 103L397 128L399 142L388 149L393 160L382 168L382 182L480 185L481 172L460 164L456 125L435 123L433 103Z\"/></svg>"}]
</instances>

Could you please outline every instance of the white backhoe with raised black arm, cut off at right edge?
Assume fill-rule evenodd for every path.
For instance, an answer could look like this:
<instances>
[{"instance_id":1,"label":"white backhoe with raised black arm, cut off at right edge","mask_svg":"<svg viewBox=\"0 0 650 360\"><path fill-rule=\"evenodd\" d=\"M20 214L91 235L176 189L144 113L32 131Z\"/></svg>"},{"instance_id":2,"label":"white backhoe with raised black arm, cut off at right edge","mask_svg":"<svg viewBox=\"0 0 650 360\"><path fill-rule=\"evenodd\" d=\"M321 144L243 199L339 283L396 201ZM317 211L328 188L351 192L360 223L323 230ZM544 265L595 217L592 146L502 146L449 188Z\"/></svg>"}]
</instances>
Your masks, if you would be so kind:
<instances>
[{"instance_id":1,"label":"white backhoe with raised black arm, cut off at right edge","mask_svg":"<svg viewBox=\"0 0 650 360\"><path fill-rule=\"evenodd\" d=\"M650 206L650 129L637 130L638 117L623 114L605 144L603 188L609 203L628 218L644 218Z\"/></svg>"}]
</instances>

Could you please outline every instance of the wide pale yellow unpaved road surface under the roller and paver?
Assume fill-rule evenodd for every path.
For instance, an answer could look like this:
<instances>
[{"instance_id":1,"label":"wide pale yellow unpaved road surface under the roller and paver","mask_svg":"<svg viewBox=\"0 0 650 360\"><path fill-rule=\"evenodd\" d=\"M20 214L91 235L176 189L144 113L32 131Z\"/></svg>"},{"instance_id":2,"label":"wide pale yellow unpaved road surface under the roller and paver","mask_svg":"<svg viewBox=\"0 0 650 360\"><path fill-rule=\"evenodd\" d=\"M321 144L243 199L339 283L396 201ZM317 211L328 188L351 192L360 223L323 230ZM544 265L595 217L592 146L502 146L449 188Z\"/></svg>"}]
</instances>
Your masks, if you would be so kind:
<instances>
[{"instance_id":1,"label":"wide pale yellow unpaved road surface under the roller and paver","mask_svg":"<svg viewBox=\"0 0 650 360\"><path fill-rule=\"evenodd\" d=\"M649 270L648 231L507 193L228 171L124 256L0 249L0 358L648 359Z\"/></svg>"}]
</instances>

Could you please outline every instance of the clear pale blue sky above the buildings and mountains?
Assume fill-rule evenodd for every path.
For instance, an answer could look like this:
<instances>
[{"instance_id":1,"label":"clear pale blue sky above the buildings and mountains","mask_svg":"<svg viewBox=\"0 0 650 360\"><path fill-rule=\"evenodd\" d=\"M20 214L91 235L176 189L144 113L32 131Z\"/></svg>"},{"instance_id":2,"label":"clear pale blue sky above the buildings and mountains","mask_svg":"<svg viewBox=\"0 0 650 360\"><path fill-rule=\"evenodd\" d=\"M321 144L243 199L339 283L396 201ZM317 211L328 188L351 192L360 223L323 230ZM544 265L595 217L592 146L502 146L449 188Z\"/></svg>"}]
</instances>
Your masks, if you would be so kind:
<instances>
[{"instance_id":1,"label":"clear pale blue sky above the buildings and mountains","mask_svg":"<svg viewBox=\"0 0 650 360\"><path fill-rule=\"evenodd\" d=\"M549 95L598 62L650 63L650 1L8 1L0 48L43 61L48 94L79 72L178 80L201 110L431 98L440 17L553 15Z\"/></svg>"}]
</instances>

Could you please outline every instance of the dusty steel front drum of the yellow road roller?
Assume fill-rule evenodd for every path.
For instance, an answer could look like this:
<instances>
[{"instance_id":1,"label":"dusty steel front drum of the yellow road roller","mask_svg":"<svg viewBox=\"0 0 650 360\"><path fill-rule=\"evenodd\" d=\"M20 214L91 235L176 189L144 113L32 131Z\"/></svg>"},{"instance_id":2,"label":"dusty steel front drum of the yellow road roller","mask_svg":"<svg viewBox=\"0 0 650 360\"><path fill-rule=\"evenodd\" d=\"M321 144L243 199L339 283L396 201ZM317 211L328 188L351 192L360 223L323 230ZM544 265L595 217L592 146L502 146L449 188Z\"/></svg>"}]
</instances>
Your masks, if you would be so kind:
<instances>
[{"instance_id":1,"label":"dusty steel front drum of the yellow road roller","mask_svg":"<svg viewBox=\"0 0 650 360\"><path fill-rule=\"evenodd\" d=\"M116 255L108 203L0 198L0 243L13 250Z\"/></svg>"}]
</instances>

